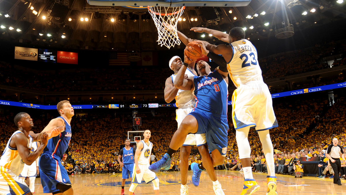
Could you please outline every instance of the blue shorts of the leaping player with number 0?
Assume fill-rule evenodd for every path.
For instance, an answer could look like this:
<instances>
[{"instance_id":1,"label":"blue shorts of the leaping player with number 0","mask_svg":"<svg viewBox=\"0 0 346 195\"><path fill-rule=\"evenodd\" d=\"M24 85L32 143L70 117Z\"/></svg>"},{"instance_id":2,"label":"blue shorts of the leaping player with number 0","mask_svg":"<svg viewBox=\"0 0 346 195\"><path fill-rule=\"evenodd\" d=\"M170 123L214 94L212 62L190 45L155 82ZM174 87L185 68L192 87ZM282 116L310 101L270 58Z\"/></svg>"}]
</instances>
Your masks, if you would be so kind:
<instances>
[{"instance_id":1,"label":"blue shorts of the leaping player with number 0","mask_svg":"<svg viewBox=\"0 0 346 195\"><path fill-rule=\"evenodd\" d=\"M198 130L195 134L206 134L209 153L217 149L221 156L226 156L228 143L228 122L227 115L215 114L195 108L192 115L198 123Z\"/></svg>"}]
</instances>

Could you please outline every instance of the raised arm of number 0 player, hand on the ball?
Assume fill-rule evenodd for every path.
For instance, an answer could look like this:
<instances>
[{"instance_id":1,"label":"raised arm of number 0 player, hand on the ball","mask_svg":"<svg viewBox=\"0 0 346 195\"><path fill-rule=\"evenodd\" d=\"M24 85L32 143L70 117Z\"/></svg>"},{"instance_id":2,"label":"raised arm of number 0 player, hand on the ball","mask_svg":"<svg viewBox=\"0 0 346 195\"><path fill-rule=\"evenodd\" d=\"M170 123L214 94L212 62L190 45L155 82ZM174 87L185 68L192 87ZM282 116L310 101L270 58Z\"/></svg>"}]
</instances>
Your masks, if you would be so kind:
<instances>
[{"instance_id":1,"label":"raised arm of number 0 player, hand on the ball","mask_svg":"<svg viewBox=\"0 0 346 195\"><path fill-rule=\"evenodd\" d=\"M176 74L176 78L174 79L174 87L181 89L181 90L191 90L193 85L193 78L184 78L185 77L185 71L186 69L191 65L194 64L196 60L190 60L185 55L184 50L184 63L183 66L180 68L179 72Z\"/></svg>"}]
</instances>

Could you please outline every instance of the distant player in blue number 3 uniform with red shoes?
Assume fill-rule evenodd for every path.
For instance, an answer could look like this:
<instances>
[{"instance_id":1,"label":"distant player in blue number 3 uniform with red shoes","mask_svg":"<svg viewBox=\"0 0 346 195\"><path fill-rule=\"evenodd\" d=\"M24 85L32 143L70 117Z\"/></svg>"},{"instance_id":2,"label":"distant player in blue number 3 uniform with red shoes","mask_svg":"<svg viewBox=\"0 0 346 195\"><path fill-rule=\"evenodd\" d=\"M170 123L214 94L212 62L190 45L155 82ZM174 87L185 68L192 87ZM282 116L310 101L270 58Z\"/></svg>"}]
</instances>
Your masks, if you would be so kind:
<instances>
[{"instance_id":1,"label":"distant player in blue number 3 uniform with red shoes","mask_svg":"<svg viewBox=\"0 0 346 195\"><path fill-rule=\"evenodd\" d=\"M122 157L122 162L120 161ZM118 162L120 167L122 167L122 175L121 175L121 195L125 194L124 186L125 186L125 180L129 178L132 180L132 172L133 172L133 164L134 161L134 155L133 155L133 148L130 147L130 140L125 140L125 147L122 148L119 152L118 156Z\"/></svg>"}]
</instances>

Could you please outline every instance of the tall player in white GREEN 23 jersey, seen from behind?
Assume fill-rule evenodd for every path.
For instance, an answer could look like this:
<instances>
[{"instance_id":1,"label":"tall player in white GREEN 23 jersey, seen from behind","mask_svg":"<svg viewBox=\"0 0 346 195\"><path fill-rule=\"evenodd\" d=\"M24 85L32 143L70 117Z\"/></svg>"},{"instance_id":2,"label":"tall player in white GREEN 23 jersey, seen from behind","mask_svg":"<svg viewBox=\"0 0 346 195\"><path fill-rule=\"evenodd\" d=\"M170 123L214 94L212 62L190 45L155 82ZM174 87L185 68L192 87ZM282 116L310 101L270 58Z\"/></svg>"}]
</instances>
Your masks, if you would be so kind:
<instances>
[{"instance_id":1,"label":"tall player in white GREEN 23 jersey, seen from behind","mask_svg":"<svg viewBox=\"0 0 346 195\"><path fill-rule=\"evenodd\" d=\"M245 177L241 194L252 194L260 188L252 176L251 148L248 142L249 130L255 128L260 137L267 162L267 195L276 195L274 150L269 130L278 125L270 91L263 82L255 46L245 39L245 32L240 27L231 29L229 35L206 28L191 28L191 30L207 32L222 41L230 43L229 45L221 44L216 46L204 42L209 51L222 54L228 62L227 69L230 78L237 87L232 96L232 119L236 129L239 158L242 162Z\"/></svg>"}]
</instances>

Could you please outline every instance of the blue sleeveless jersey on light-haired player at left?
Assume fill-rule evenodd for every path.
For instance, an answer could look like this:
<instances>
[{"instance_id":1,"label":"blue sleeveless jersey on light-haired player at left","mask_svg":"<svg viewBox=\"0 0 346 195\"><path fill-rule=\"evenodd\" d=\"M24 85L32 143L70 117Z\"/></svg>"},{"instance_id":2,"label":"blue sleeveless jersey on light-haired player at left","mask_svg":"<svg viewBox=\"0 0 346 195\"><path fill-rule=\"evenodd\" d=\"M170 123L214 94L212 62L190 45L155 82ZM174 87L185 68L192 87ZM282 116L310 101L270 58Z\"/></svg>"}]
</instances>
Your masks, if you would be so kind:
<instances>
[{"instance_id":1,"label":"blue sleeveless jersey on light-haired player at left","mask_svg":"<svg viewBox=\"0 0 346 195\"><path fill-rule=\"evenodd\" d=\"M49 139L44 152L49 151L56 156L63 158L64 153L66 152L67 148L69 148L72 132L71 125L67 123L65 118L61 116L58 118L62 118L65 121L65 131L61 132L60 135Z\"/></svg>"}]
</instances>

